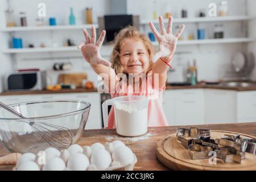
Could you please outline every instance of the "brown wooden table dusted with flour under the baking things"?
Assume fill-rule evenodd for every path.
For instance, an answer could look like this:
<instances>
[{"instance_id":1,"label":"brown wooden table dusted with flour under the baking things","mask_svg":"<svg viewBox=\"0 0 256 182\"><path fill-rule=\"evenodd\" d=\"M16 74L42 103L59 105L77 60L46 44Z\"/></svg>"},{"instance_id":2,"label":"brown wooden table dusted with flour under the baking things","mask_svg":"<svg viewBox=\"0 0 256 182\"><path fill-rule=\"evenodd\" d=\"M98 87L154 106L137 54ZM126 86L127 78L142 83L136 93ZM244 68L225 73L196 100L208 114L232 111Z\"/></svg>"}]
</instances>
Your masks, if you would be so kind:
<instances>
[{"instance_id":1,"label":"brown wooden table dusted with flour under the baking things","mask_svg":"<svg viewBox=\"0 0 256 182\"><path fill-rule=\"evenodd\" d=\"M122 142L129 146L137 156L138 162L135 164L134 170L168 170L168 168L164 167L161 163L159 163L158 159L156 159L156 143L167 135L176 133L176 127L177 126L150 127L148 129L148 133L141 137L121 137L115 133L115 130L85 130L78 143L85 146L91 145L94 142L101 142L105 144L106 142L112 142L113 140L122 140ZM256 136L256 122L197 125L193 127L211 130L234 131L236 133ZM3 148L3 145L0 144L0 156L6 154L9 153L5 150L5 148ZM13 166L1 166L0 170L10 170L12 168Z\"/></svg>"}]
</instances>

